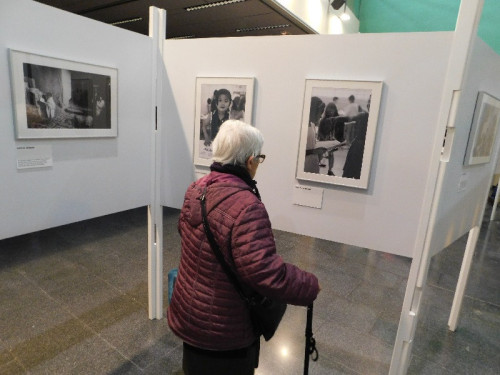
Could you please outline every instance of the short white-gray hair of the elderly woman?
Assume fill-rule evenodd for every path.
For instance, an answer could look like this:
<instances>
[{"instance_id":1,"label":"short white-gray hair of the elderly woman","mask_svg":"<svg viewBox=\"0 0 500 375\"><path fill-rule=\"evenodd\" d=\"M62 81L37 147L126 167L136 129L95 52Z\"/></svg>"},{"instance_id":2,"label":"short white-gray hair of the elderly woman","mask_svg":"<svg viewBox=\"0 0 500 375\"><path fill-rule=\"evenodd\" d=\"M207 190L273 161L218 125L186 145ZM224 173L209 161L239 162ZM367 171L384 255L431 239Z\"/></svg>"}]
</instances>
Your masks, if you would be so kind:
<instances>
[{"instance_id":1,"label":"short white-gray hair of the elderly woman","mask_svg":"<svg viewBox=\"0 0 500 375\"><path fill-rule=\"evenodd\" d=\"M219 128L212 143L213 160L221 164L244 166L250 156L262 150L262 133L239 120L227 120Z\"/></svg>"}]
</instances>

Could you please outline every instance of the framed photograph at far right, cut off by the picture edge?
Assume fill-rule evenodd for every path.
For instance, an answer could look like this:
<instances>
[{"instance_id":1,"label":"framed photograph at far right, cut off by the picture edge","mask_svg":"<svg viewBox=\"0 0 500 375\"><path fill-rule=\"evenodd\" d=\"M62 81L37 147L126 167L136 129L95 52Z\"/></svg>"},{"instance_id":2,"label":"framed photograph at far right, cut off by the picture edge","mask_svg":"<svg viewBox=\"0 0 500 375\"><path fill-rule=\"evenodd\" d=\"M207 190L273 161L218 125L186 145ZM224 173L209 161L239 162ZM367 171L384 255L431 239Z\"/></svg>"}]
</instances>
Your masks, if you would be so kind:
<instances>
[{"instance_id":1,"label":"framed photograph at far right, cut off by the picture edge","mask_svg":"<svg viewBox=\"0 0 500 375\"><path fill-rule=\"evenodd\" d=\"M479 92L467 142L464 165L488 163L500 122L500 100Z\"/></svg>"}]
</instances>

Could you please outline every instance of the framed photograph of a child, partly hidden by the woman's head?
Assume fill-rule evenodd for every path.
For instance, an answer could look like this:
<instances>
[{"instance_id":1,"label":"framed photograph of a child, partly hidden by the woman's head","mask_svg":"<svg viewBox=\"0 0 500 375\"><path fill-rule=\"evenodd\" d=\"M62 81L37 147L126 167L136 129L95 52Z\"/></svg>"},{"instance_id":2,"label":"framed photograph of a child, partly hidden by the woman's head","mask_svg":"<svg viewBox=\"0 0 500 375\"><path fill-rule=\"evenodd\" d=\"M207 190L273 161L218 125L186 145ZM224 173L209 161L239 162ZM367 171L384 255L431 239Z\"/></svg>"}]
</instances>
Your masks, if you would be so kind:
<instances>
[{"instance_id":1,"label":"framed photograph of a child, partly hidden by the woman's head","mask_svg":"<svg viewBox=\"0 0 500 375\"><path fill-rule=\"evenodd\" d=\"M212 141L228 120L252 124L254 78L196 78L194 163L212 164Z\"/></svg>"}]
</instances>

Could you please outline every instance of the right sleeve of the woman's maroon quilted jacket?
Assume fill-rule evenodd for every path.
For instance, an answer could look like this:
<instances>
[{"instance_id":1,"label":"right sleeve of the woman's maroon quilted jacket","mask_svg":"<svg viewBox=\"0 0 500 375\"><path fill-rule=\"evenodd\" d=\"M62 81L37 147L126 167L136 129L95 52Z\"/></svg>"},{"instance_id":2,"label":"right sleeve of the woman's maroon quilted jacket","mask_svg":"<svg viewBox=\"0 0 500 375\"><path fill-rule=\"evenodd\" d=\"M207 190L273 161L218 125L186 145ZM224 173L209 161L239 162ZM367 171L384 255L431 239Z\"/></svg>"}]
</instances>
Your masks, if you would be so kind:
<instances>
[{"instance_id":1,"label":"right sleeve of the woman's maroon quilted jacket","mask_svg":"<svg viewBox=\"0 0 500 375\"><path fill-rule=\"evenodd\" d=\"M260 201L245 207L234 222L232 256L241 280L260 294L293 305L307 306L318 293L312 273L285 263L276 253L267 211Z\"/></svg>"}]
</instances>

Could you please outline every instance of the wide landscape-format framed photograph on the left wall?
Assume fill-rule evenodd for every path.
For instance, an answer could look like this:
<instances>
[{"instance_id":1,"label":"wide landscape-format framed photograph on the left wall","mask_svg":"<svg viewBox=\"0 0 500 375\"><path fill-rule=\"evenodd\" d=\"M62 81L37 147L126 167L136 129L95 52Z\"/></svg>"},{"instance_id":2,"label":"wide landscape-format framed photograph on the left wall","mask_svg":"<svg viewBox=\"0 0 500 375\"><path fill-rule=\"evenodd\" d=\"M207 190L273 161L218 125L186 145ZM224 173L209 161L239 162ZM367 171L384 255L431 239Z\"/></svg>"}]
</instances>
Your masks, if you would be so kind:
<instances>
[{"instance_id":1,"label":"wide landscape-format framed photograph on the left wall","mask_svg":"<svg viewBox=\"0 0 500 375\"><path fill-rule=\"evenodd\" d=\"M117 136L117 70L9 51L16 138Z\"/></svg>"}]
</instances>

